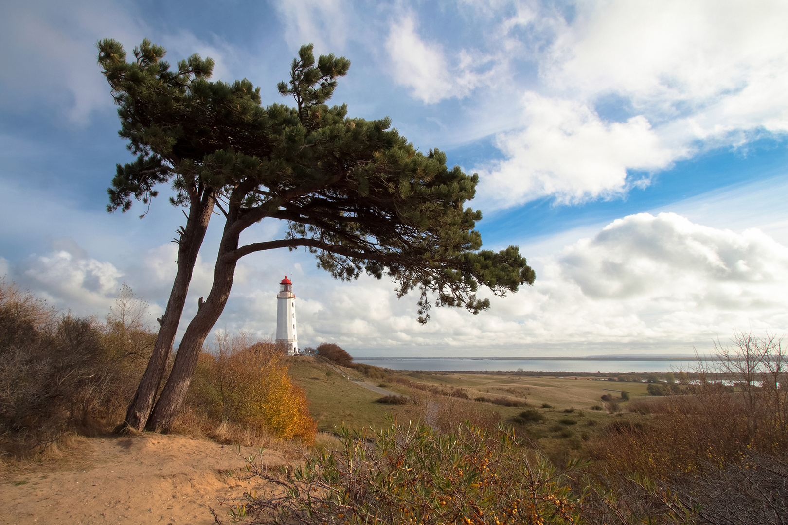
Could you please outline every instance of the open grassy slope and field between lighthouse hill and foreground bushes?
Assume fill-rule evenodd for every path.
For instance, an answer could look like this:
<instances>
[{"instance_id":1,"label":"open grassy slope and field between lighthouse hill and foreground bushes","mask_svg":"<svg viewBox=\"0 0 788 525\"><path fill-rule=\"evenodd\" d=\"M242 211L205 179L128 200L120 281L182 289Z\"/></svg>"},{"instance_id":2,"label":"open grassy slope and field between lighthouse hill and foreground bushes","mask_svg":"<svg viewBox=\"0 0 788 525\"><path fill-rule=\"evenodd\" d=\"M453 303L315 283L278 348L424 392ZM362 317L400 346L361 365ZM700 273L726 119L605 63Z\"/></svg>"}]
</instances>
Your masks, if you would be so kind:
<instances>
[{"instance_id":1,"label":"open grassy slope and field between lighthouse hill and foreground bushes","mask_svg":"<svg viewBox=\"0 0 788 525\"><path fill-rule=\"evenodd\" d=\"M588 442L596 441L609 423L637 423L650 418L649 414L629 409L655 401L647 393L646 383L601 380L615 379L615 375L385 370L384 378L372 379L318 357L294 358L291 374L307 391L310 410L322 431L335 432L340 425L357 431L370 427L377 430L388 426L388 418L396 417L400 422L418 419L418 410L410 404L378 403L381 394L359 385L366 382L397 394L426 394L433 404L461 401L471 409L496 412L502 422L513 425L545 452L562 456L569 451L576 451L571 454L575 455ZM629 394L629 401L621 398L622 391ZM604 395L612 401L602 401Z\"/></svg>"}]
</instances>

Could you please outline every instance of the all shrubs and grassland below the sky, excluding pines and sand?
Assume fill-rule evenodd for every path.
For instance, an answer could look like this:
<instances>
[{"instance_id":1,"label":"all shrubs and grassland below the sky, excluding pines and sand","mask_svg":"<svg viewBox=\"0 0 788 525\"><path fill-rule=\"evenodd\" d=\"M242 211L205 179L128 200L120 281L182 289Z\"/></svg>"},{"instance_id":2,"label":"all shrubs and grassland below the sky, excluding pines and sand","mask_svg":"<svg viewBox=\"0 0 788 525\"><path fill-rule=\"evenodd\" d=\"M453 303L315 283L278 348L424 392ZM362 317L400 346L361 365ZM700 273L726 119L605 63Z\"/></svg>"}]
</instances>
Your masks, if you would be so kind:
<instances>
[{"instance_id":1,"label":"all shrubs and grassland below the sky, excluding pines and sand","mask_svg":"<svg viewBox=\"0 0 788 525\"><path fill-rule=\"evenodd\" d=\"M111 430L154 341L142 303L125 288L99 321L0 285L2 450L24 457ZM282 489L232 502L230 517L250 523L781 523L781 344L737 334L713 368L611 378L396 372L334 344L287 357L221 335L170 431L258 446L312 443L317 430L339 439L295 471L250 465Z\"/></svg>"}]
</instances>

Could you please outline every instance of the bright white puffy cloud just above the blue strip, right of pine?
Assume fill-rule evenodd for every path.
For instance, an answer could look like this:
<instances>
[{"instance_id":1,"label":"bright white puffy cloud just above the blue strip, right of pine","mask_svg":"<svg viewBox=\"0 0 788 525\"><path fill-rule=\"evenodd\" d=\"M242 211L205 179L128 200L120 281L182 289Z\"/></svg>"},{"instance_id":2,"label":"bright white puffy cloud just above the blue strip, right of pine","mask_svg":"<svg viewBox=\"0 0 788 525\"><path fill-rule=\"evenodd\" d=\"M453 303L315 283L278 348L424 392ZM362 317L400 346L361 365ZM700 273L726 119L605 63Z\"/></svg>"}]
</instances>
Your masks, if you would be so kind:
<instances>
[{"instance_id":1,"label":"bright white puffy cloud just above the blue strip, right of pine","mask_svg":"<svg viewBox=\"0 0 788 525\"><path fill-rule=\"evenodd\" d=\"M522 105L526 128L498 135L506 159L481 171L484 196L503 205L620 194L633 183L628 170L665 168L679 156L641 115L606 122L582 102L534 92Z\"/></svg>"}]
</instances>

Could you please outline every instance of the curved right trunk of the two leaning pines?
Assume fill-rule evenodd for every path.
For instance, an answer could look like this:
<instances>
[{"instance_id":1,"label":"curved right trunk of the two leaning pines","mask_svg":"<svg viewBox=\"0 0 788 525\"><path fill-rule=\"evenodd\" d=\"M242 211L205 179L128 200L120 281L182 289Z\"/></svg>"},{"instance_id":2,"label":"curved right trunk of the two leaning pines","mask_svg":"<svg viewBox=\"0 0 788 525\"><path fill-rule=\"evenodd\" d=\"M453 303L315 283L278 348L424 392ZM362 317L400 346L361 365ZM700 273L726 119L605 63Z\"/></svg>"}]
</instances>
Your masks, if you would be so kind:
<instances>
[{"instance_id":1,"label":"curved right trunk of the two leaning pines","mask_svg":"<svg viewBox=\"0 0 788 525\"><path fill-rule=\"evenodd\" d=\"M173 371L169 373L169 379L162 390L162 395L156 401L154 411L148 419L146 428L149 431L160 431L172 425L180 405L186 397L186 391L197 367L197 359L203 349L203 343L227 305L237 260L232 259L231 262L225 262L222 259L225 253L238 248L238 239L240 238L240 232L229 233L232 230L231 223L232 221L228 221L228 224L225 225L225 235L219 246L214 267L214 284L210 289L207 301L200 305L197 315L189 323L184 338L180 341Z\"/></svg>"}]
</instances>

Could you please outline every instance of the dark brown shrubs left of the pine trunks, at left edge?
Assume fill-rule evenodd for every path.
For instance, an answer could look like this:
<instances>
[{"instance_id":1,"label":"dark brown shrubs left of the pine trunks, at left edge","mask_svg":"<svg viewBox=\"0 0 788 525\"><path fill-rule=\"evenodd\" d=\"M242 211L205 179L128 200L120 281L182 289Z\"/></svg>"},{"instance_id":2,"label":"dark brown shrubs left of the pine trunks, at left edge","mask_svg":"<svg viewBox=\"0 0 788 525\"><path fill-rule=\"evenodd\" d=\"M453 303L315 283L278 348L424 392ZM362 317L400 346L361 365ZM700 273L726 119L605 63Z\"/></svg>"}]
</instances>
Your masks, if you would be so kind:
<instances>
[{"instance_id":1,"label":"dark brown shrubs left of the pine trunks, at left edge","mask_svg":"<svg viewBox=\"0 0 788 525\"><path fill-rule=\"evenodd\" d=\"M125 415L155 335L144 303L121 289L106 323L58 316L0 279L0 446L25 456L71 431L95 434Z\"/></svg>"}]
</instances>

